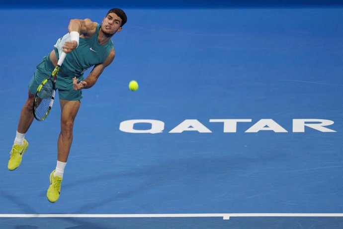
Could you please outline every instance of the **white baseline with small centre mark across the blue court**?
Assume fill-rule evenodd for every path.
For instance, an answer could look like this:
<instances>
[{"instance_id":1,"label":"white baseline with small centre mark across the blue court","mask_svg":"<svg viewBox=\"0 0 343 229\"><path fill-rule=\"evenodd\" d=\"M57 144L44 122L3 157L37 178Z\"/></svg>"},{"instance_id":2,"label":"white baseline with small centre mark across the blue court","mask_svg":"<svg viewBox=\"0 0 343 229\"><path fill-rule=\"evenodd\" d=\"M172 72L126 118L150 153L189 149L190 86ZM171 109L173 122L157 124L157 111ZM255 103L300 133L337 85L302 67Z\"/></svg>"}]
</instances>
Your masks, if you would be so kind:
<instances>
[{"instance_id":1,"label":"white baseline with small centre mark across the blue court","mask_svg":"<svg viewBox=\"0 0 343 229\"><path fill-rule=\"evenodd\" d=\"M343 213L221 213L221 214L0 214L0 218L167 218L167 217L343 217Z\"/></svg>"}]
</instances>

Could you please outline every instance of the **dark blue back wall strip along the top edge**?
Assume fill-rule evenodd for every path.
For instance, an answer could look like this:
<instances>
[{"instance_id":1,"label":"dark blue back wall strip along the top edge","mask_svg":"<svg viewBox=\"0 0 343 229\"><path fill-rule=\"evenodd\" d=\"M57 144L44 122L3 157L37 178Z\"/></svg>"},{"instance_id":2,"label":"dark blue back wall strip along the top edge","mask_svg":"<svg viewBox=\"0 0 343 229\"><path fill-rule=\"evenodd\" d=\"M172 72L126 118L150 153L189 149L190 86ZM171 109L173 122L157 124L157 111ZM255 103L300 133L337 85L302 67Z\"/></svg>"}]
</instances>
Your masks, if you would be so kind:
<instances>
[{"instance_id":1,"label":"dark blue back wall strip along the top edge","mask_svg":"<svg viewBox=\"0 0 343 229\"><path fill-rule=\"evenodd\" d=\"M32 8L111 8L111 7L147 7L147 8L166 8L166 7L323 7L323 6L343 6L343 0L16 0L2 2L2 8L13 7L32 7Z\"/></svg>"}]
</instances>

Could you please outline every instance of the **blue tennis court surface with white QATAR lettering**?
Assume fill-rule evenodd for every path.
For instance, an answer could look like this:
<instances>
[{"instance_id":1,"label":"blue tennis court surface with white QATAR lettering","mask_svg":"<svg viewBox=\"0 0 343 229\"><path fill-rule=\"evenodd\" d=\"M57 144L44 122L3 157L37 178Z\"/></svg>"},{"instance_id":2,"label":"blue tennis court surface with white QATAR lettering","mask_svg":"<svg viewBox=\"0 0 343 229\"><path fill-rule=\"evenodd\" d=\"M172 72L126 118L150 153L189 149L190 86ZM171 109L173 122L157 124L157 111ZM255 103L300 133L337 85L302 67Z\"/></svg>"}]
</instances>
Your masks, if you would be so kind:
<instances>
[{"instance_id":1,"label":"blue tennis court surface with white QATAR lettering","mask_svg":"<svg viewBox=\"0 0 343 229\"><path fill-rule=\"evenodd\" d=\"M340 6L123 7L59 201L58 103L8 171L36 65L70 19L110 7L0 9L0 228L343 227Z\"/></svg>"}]
</instances>

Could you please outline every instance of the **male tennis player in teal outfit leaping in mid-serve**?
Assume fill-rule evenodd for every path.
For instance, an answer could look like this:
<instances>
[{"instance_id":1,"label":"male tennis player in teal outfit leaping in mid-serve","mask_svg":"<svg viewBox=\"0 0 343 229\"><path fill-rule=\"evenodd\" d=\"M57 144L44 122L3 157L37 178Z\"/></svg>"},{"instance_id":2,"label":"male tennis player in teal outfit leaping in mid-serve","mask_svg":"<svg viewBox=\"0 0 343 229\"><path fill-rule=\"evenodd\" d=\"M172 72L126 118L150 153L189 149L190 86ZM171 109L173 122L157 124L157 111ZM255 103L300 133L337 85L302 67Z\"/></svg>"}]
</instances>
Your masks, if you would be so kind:
<instances>
[{"instance_id":1,"label":"male tennis player in teal outfit leaping in mid-serve","mask_svg":"<svg viewBox=\"0 0 343 229\"><path fill-rule=\"evenodd\" d=\"M60 197L61 182L73 141L73 126L80 108L82 89L91 88L102 71L114 59L114 48L111 37L120 32L126 23L126 14L118 8L110 9L101 25L90 19L72 19L66 35L58 39L54 49L43 58L28 85L28 99L21 110L18 128L14 139L8 169L16 169L22 155L28 147L25 133L33 121L33 98L39 84L49 77L57 65L62 52L67 53L59 72L56 88L61 105L61 132L57 142L57 165L50 174L50 187L47 198L54 203ZM93 67L84 80L84 72Z\"/></svg>"}]
</instances>

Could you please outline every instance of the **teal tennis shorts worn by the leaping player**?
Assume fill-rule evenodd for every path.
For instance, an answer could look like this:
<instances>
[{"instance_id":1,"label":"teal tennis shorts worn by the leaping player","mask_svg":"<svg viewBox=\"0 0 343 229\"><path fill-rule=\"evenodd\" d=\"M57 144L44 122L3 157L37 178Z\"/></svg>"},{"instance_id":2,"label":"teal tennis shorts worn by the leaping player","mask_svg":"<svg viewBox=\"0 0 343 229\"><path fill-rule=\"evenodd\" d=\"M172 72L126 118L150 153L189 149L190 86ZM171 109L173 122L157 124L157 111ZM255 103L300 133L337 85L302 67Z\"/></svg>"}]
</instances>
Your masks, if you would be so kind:
<instances>
[{"instance_id":1,"label":"teal tennis shorts worn by the leaping player","mask_svg":"<svg viewBox=\"0 0 343 229\"><path fill-rule=\"evenodd\" d=\"M55 66L51 63L49 54L44 56L42 62L37 65L37 69L28 85L30 93L33 95L36 94L40 83L42 83L44 79L48 78L54 69ZM59 82L59 78L63 78L63 80ZM81 90L77 91L73 89L72 77L67 77L61 72L57 74L56 88L58 89L58 96L60 100L77 101L83 98Z\"/></svg>"}]
</instances>

